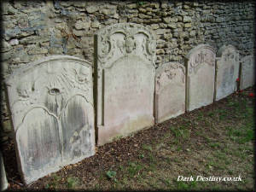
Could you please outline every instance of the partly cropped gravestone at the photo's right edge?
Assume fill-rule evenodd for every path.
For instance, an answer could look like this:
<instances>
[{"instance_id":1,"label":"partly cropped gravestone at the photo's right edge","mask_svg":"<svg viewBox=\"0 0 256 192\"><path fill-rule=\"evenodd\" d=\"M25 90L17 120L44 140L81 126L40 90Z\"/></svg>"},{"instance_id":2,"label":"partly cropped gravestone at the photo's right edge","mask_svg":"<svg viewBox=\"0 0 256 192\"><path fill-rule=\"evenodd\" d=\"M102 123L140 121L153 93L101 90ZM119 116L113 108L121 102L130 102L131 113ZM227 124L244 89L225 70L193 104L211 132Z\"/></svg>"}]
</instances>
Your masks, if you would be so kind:
<instances>
[{"instance_id":1,"label":"partly cropped gravestone at the photo's right edge","mask_svg":"<svg viewBox=\"0 0 256 192\"><path fill-rule=\"evenodd\" d=\"M241 58L241 79L240 90L255 84L255 57L247 55Z\"/></svg>"}]
</instances>

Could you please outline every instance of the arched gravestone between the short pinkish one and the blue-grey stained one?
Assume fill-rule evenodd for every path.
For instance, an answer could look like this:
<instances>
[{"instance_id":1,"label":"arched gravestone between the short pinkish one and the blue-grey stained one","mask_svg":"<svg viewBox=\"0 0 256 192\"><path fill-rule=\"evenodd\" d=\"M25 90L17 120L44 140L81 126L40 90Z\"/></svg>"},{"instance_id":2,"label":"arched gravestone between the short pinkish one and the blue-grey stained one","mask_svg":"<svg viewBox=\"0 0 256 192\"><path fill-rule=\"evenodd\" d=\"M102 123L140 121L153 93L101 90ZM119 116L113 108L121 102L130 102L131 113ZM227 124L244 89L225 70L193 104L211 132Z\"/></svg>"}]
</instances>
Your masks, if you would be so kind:
<instances>
[{"instance_id":1,"label":"arched gravestone between the short pinkish one and the blue-grey stained one","mask_svg":"<svg viewBox=\"0 0 256 192\"><path fill-rule=\"evenodd\" d=\"M201 108L213 102L215 56L215 50L207 44L196 46L186 55L187 111Z\"/></svg>"}]
</instances>

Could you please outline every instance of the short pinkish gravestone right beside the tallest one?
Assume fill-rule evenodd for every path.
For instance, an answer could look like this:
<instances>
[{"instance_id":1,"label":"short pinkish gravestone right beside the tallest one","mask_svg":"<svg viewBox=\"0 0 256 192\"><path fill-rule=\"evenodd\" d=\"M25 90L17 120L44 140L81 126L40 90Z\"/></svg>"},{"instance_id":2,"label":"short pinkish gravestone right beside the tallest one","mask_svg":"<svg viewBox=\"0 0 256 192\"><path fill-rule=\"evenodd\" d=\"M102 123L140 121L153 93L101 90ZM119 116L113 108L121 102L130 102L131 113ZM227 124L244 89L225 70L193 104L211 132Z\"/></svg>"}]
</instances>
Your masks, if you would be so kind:
<instances>
[{"instance_id":1,"label":"short pinkish gravestone right beside the tallest one","mask_svg":"<svg viewBox=\"0 0 256 192\"><path fill-rule=\"evenodd\" d=\"M155 72L154 117L160 123L185 112L185 67L165 63Z\"/></svg>"}]
</instances>

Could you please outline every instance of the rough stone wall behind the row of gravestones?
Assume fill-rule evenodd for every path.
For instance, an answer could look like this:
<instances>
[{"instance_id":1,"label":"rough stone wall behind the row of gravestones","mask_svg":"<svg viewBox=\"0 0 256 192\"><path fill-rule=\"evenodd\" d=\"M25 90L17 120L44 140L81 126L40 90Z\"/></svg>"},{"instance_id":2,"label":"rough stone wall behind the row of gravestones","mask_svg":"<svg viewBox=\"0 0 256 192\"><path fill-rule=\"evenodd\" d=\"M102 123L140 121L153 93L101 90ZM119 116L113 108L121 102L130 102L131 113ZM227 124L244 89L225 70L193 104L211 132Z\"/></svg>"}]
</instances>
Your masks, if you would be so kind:
<instances>
[{"instance_id":1,"label":"rough stone wall behind the row of gravestones","mask_svg":"<svg viewBox=\"0 0 256 192\"><path fill-rule=\"evenodd\" d=\"M198 44L255 48L255 2L213 1L3 1L1 64L4 74L46 55L93 61L93 35L103 26L131 22L157 34L156 65L183 63ZM3 95L2 119L8 119ZM10 126L9 121L3 122Z\"/></svg>"}]
</instances>

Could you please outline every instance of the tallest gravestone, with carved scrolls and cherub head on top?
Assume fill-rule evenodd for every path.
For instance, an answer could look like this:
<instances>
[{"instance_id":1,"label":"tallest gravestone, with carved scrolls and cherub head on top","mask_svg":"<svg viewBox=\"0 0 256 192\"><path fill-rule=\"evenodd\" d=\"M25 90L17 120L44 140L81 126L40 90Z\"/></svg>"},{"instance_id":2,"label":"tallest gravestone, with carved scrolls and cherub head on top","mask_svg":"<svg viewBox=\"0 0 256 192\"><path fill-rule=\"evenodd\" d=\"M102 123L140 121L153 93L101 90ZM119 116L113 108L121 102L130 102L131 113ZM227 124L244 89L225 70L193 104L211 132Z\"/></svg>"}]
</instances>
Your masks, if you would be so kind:
<instances>
[{"instance_id":1,"label":"tallest gravestone, with carved scrolls and cherub head on top","mask_svg":"<svg viewBox=\"0 0 256 192\"><path fill-rule=\"evenodd\" d=\"M98 144L154 125L155 36L119 23L96 34Z\"/></svg>"}]
</instances>

